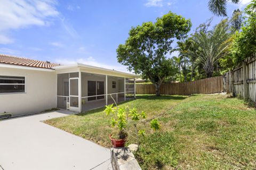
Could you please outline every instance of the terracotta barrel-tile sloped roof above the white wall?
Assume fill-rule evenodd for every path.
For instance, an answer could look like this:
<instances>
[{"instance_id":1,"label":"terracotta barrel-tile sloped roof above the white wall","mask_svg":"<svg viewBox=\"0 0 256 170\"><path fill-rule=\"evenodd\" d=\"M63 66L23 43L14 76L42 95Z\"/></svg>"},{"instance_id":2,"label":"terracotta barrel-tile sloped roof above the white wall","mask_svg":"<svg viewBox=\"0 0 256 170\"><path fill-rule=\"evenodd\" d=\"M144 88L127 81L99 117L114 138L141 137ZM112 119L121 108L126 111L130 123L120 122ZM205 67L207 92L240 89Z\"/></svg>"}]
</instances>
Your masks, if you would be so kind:
<instances>
[{"instance_id":1,"label":"terracotta barrel-tile sloped roof above the white wall","mask_svg":"<svg viewBox=\"0 0 256 170\"><path fill-rule=\"evenodd\" d=\"M51 63L49 61L38 61L26 58L19 58L17 56L5 54L0 54L0 63L46 69L52 69L52 67L60 66L60 64Z\"/></svg>"}]
</instances>

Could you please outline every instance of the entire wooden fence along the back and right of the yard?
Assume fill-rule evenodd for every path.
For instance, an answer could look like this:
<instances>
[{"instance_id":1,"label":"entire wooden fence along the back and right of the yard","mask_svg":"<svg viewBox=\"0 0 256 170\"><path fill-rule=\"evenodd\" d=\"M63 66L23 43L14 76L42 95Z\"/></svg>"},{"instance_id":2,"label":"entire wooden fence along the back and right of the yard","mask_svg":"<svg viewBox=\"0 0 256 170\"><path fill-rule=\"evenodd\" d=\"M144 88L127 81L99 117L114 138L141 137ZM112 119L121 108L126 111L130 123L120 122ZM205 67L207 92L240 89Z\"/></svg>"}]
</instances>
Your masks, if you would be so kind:
<instances>
[{"instance_id":1,"label":"entire wooden fence along the back and right of the yard","mask_svg":"<svg viewBox=\"0 0 256 170\"><path fill-rule=\"evenodd\" d=\"M161 86L161 94L210 94L219 92L233 93L244 100L256 102L256 55L246 58L236 69L224 76L205 78L193 82L166 83ZM137 94L155 94L153 84L137 84Z\"/></svg>"}]
</instances>

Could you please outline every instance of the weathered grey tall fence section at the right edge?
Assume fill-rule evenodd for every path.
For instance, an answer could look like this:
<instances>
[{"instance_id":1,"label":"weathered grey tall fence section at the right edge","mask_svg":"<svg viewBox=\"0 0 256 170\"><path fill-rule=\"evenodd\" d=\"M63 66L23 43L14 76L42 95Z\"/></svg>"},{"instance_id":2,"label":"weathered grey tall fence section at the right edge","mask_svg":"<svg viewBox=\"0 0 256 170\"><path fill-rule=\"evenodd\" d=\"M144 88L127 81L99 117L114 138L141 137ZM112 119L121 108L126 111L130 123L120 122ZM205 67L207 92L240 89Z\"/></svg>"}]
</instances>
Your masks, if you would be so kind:
<instances>
[{"instance_id":1,"label":"weathered grey tall fence section at the right edge","mask_svg":"<svg viewBox=\"0 0 256 170\"><path fill-rule=\"evenodd\" d=\"M224 90L256 102L256 56L244 60L241 66L224 77Z\"/></svg>"}]
</instances>

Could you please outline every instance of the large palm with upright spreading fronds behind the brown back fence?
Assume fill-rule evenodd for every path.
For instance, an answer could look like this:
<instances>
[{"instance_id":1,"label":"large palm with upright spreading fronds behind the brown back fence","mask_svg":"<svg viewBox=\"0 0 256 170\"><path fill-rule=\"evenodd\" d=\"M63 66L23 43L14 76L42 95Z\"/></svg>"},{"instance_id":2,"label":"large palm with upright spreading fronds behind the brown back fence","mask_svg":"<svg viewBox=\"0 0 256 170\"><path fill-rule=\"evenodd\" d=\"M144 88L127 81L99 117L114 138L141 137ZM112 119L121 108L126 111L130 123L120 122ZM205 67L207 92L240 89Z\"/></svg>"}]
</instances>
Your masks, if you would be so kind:
<instances>
[{"instance_id":1,"label":"large palm with upright spreading fronds behind the brown back fence","mask_svg":"<svg viewBox=\"0 0 256 170\"><path fill-rule=\"evenodd\" d=\"M214 66L218 59L227 53L231 37L228 20L222 20L213 30L207 33L200 32L194 35L195 43L198 47L198 56L206 73L206 77L212 77Z\"/></svg>"}]
</instances>

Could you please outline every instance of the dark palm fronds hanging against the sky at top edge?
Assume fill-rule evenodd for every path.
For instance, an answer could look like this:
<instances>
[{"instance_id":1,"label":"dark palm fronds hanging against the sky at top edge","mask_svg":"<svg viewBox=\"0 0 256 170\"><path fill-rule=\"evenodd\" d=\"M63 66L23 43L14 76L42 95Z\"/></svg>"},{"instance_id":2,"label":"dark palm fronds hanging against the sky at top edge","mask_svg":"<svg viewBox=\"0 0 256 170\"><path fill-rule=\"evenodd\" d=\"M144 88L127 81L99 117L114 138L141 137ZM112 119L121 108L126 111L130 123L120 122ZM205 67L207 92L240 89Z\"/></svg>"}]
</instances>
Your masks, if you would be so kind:
<instances>
[{"instance_id":1,"label":"dark palm fronds hanging against the sky at top edge","mask_svg":"<svg viewBox=\"0 0 256 170\"><path fill-rule=\"evenodd\" d=\"M227 16L227 3L229 0L209 0L209 10L217 16ZM239 0L230 0L232 3L237 4Z\"/></svg>"}]
</instances>

